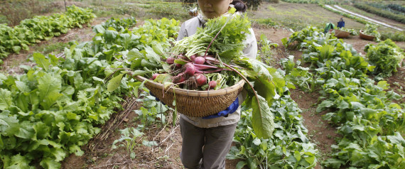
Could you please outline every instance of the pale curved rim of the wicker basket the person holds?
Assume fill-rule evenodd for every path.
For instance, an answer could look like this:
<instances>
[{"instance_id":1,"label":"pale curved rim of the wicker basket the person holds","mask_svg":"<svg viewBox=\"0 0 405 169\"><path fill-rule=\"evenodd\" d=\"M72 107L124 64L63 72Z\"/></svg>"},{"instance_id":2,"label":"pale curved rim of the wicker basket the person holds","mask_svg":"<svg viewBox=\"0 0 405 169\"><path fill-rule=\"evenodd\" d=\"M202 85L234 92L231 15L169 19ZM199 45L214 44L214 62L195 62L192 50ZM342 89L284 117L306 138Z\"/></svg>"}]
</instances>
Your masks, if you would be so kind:
<instances>
[{"instance_id":1,"label":"pale curved rim of the wicker basket the person holds","mask_svg":"<svg viewBox=\"0 0 405 169\"><path fill-rule=\"evenodd\" d=\"M131 73L129 73L129 75L131 75ZM181 95L187 95L187 96L190 96L190 97L215 97L215 96L220 96L220 95L235 92L235 91L239 90L240 88L242 88L244 86L244 80L240 80L239 82L237 82L236 84L234 84L231 87L227 87L225 89L210 90L210 91L197 91L197 90L189 90L189 89L180 89L180 88L175 88L175 87L171 87L169 89L163 89L164 86L161 83L153 82L153 81L148 80L145 77L142 77L140 75L136 75L136 76L132 76L132 77L134 77L136 80L139 80L141 82L144 82L145 80L147 80L146 83L148 83L152 87L157 87L159 89L162 89L162 91L171 92L171 93L175 93L175 94L181 94Z\"/></svg>"}]
</instances>

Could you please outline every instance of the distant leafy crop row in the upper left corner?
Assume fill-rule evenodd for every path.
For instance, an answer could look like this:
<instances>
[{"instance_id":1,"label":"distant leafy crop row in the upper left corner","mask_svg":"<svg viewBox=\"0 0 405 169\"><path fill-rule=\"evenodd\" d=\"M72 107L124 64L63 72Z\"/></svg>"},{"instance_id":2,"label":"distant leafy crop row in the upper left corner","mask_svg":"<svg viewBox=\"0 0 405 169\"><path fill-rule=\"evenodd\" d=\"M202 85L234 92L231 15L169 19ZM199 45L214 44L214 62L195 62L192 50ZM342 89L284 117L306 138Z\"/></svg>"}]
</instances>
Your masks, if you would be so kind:
<instances>
[{"instance_id":1,"label":"distant leafy crop row in the upper left corner","mask_svg":"<svg viewBox=\"0 0 405 169\"><path fill-rule=\"evenodd\" d=\"M69 28L82 28L82 24L88 23L92 18L95 18L95 14L91 9L69 6L66 13L35 16L21 21L13 28L0 24L0 61L10 53L29 50L28 45L39 43L40 40L49 40L61 33L68 33Z\"/></svg>"}]
</instances>

